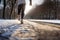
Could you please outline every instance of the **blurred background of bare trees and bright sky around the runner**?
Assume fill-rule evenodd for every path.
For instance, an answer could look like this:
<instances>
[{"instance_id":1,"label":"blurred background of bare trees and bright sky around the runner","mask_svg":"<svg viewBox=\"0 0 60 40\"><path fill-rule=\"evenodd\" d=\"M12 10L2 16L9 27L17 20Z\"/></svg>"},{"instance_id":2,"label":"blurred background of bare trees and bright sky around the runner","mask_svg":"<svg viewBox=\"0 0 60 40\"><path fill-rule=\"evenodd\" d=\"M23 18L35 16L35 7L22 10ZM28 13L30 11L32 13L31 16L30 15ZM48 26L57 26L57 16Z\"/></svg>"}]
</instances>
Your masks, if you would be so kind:
<instances>
[{"instance_id":1,"label":"blurred background of bare trees and bright sky around the runner","mask_svg":"<svg viewBox=\"0 0 60 40\"><path fill-rule=\"evenodd\" d=\"M12 4L13 3L13 4ZM0 19L16 19L18 13L16 0L0 0ZM60 0L26 0L26 19L60 19Z\"/></svg>"}]
</instances>

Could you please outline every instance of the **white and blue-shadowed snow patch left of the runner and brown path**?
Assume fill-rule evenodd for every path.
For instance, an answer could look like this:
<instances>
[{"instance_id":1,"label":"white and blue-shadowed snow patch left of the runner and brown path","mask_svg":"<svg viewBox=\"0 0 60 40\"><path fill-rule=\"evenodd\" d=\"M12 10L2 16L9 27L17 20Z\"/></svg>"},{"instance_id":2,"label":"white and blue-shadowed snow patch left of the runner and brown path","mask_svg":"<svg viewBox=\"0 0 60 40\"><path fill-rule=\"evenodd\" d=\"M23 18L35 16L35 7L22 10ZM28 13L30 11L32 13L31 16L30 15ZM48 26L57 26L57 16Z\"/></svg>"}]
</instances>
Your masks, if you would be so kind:
<instances>
[{"instance_id":1,"label":"white and blue-shadowed snow patch left of the runner and brown path","mask_svg":"<svg viewBox=\"0 0 60 40\"><path fill-rule=\"evenodd\" d=\"M18 20L0 20L0 32L2 32L1 36L11 36L16 29L21 27L18 24Z\"/></svg>"}]
</instances>

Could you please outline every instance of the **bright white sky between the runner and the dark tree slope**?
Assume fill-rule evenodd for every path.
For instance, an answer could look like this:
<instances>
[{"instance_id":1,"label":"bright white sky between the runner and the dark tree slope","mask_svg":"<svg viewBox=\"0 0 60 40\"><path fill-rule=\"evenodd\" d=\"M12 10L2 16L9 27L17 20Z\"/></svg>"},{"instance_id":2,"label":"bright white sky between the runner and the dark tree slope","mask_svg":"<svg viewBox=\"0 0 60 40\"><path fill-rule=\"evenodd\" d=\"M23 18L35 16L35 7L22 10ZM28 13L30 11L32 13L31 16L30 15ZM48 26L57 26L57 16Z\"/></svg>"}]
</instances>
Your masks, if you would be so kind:
<instances>
[{"instance_id":1,"label":"bright white sky between the runner and the dark tree slope","mask_svg":"<svg viewBox=\"0 0 60 40\"><path fill-rule=\"evenodd\" d=\"M35 5L40 5L44 0L32 0L32 6L29 5L29 0L26 0L25 14L27 14Z\"/></svg>"}]
</instances>

